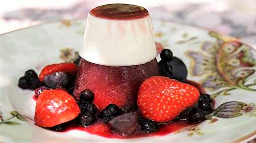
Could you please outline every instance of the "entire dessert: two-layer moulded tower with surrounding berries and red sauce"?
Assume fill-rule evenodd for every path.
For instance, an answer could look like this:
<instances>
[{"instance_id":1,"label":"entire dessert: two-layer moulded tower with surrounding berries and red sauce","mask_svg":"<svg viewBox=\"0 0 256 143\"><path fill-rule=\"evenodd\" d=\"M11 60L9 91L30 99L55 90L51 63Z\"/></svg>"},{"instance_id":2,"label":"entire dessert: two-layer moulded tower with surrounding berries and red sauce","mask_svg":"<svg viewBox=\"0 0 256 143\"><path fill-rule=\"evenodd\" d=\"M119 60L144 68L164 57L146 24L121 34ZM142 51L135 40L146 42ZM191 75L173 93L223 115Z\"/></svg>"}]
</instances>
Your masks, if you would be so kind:
<instances>
[{"instance_id":1,"label":"entire dessert: two-layer moulded tower with surrounding berries and red sauce","mask_svg":"<svg viewBox=\"0 0 256 143\"><path fill-rule=\"evenodd\" d=\"M109 138L165 135L203 122L213 101L169 49L156 61L148 11L103 5L88 15L74 63L28 70L18 80L35 91L34 121L54 130L81 130Z\"/></svg>"}]
</instances>

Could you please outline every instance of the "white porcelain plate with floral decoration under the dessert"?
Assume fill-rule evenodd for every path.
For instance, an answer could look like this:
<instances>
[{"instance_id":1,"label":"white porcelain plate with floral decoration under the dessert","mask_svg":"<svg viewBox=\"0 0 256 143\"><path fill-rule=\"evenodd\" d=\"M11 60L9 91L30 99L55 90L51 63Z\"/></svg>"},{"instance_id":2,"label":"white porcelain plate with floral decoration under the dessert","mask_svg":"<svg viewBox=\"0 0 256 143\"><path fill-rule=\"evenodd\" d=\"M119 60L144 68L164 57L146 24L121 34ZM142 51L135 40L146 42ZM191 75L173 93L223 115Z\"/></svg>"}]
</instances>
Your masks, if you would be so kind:
<instances>
[{"instance_id":1,"label":"white porcelain plate with floral decoration under the dessert","mask_svg":"<svg viewBox=\"0 0 256 143\"><path fill-rule=\"evenodd\" d=\"M179 23L155 21L157 50L172 49L215 98L201 124L165 136L110 139L81 131L58 133L33 124L33 92L17 81L27 69L73 61L86 21L62 21L0 36L0 142L246 142L256 137L256 51L235 38ZM159 60L159 55L157 57Z\"/></svg>"}]
</instances>

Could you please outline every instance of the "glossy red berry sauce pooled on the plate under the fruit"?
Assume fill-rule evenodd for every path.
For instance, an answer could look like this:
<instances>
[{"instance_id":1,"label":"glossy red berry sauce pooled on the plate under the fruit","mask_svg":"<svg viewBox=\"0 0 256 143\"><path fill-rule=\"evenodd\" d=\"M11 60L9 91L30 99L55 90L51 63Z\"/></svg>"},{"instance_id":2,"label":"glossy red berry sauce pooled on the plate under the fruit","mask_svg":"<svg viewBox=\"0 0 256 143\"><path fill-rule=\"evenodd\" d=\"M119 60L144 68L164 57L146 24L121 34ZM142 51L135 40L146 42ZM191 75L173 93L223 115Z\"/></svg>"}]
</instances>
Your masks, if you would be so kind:
<instances>
[{"instance_id":1,"label":"glossy red berry sauce pooled on the plate under the fruit","mask_svg":"<svg viewBox=\"0 0 256 143\"><path fill-rule=\"evenodd\" d=\"M201 94L205 94L204 88L199 83L191 80L187 80L187 83L196 87ZM198 105L195 104L194 107L195 106L198 106ZM127 139L127 138L138 138L138 137L151 137L151 136L162 136L169 133L174 133L186 127L195 126L195 123L194 124L190 123L187 118L188 118L188 112L184 111L182 115L177 117L177 119L175 119L174 121L171 121L169 123L164 123L164 124L158 124L158 129L155 132L145 133L140 129L141 127L138 127L138 129L135 132L133 132L133 134L130 134L130 135L124 135L117 132L113 132L110 129L110 126L108 126L108 124L103 123L101 121L97 121L88 127L82 127L79 125L79 123L77 124L77 123L71 122L71 123L61 124L60 126L56 126L52 130L56 130L56 131L60 130L61 132L66 132L66 133L72 132L74 130L79 130L79 131L84 131L90 134L95 134L95 135L99 135L107 138ZM120 130L122 130L121 129L122 126L120 126L119 128Z\"/></svg>"}]
</instances>

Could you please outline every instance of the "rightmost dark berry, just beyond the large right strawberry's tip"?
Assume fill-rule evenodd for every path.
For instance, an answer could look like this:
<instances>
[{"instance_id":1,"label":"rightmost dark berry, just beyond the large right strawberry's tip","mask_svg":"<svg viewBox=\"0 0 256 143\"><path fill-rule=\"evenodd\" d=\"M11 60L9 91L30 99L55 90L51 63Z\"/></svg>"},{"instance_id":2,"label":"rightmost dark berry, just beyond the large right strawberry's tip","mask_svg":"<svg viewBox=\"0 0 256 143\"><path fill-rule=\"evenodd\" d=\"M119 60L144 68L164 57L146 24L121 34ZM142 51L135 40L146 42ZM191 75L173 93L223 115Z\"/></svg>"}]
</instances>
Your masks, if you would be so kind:
<instances>
[{"instance_id":1,"label":"rightmost dark berry, just beyond the large right strawberry's tip","mask_svg":"<svg viewBox=\"0 0 256 143\"><path fill-rule=\"evenodd\" d=\"M204 110L206 114L211 113L214 111L214 107L212 104L212 99L208 94L201 94L198 100L198 106L200 109Z\"/></svg>"}]
</instances>

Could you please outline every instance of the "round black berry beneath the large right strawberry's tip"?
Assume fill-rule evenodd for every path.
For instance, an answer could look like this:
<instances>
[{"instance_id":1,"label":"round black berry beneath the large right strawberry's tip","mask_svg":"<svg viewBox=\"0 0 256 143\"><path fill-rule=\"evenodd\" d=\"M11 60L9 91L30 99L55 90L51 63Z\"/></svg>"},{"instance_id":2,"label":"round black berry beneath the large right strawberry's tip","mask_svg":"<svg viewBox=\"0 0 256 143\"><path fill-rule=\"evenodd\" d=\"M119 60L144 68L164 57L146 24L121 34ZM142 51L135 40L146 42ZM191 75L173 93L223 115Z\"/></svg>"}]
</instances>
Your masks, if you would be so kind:
<instances>
[{"instance_id":1,"label":"round black berry beneath the large right strawberry's tip","mask_svg":"<svg viewBox=\"0 0 256 143\"><path fill-rule=\"evenodd\" d=\"M200 123L205 120L205 112L200 108L194 108L189 112L188 121L190 123Z\"/></svg>"}]
</instances>

